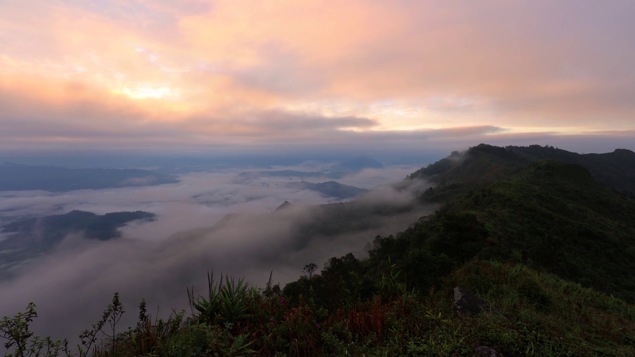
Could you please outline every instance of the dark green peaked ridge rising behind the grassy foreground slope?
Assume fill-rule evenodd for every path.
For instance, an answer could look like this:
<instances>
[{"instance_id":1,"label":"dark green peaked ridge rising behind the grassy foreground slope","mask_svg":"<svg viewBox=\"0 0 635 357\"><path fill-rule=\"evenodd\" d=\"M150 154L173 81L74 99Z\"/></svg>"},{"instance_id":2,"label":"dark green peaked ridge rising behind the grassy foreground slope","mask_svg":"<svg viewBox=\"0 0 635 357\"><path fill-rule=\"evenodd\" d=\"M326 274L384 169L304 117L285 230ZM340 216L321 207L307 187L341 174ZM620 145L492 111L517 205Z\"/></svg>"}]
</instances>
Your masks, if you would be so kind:
<instances>
[{"instance_id":1,"label":"dark green peaked ridge rising behind the grassy foreground slope","mask_svg":"<svg viewBox=\"0 0 635 357\"><path fill-rule=\"evenodd\" d=\"M597 167L630 169L596 155ZM587 168L481 144L409 178L436 184L422 197L446 205L398 239L458 261L516 260L635 302L635 198Z\"/></svg>"}]
</instances>

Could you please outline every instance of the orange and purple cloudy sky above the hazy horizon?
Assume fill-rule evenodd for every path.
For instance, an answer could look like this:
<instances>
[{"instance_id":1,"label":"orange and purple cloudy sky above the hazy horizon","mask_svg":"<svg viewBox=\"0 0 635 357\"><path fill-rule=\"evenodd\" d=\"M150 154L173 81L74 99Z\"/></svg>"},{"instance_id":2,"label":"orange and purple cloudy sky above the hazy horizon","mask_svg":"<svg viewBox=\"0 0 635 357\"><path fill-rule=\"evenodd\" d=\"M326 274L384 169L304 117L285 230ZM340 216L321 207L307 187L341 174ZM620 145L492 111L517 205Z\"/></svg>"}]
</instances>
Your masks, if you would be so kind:
<instances>
[{"instance_id":1,"label":"orange and purple cloudy sky above the hazy horizon","mask_svg":"<svg viewBox=\"0 0 635 357\"><path fill-rule=\"evenodd\" d=\"M3 0L0 154L635 149L635 3Z\"/></svg>"}]
</instances>

